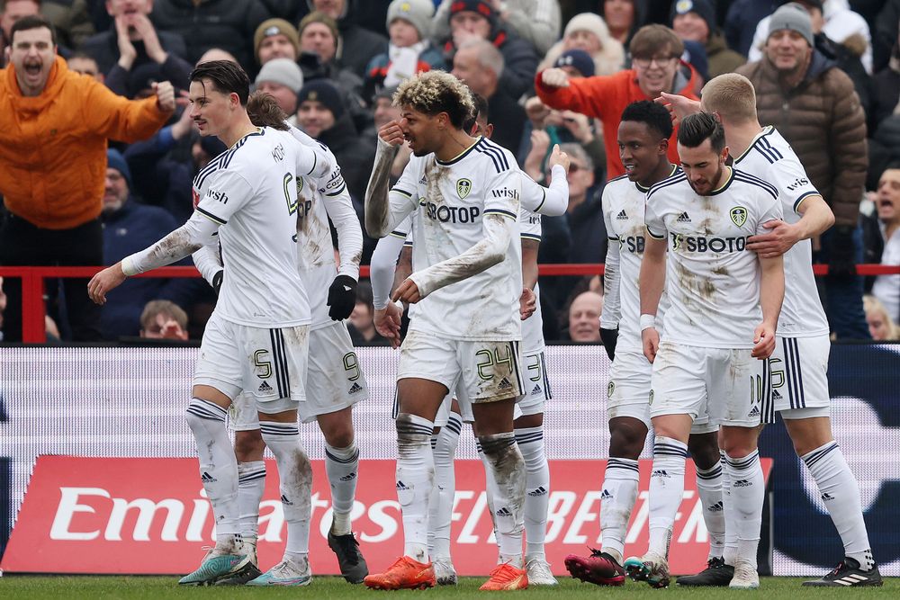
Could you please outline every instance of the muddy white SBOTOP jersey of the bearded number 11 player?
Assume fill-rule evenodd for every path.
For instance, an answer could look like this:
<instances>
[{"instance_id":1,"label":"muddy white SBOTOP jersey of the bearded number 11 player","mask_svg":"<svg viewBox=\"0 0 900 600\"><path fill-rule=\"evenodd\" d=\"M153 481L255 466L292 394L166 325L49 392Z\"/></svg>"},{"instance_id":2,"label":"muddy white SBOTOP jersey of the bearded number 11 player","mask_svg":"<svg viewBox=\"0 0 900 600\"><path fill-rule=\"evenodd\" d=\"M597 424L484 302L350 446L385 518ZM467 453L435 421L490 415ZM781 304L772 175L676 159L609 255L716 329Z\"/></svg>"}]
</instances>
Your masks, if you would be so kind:
<instances>
[{"instance_id":1,"label":"muddy white SBOTOP jersey of the bearded number 11 player","mask_svg":"<svg viewBox=\"0 0 900 600\"><path fill-rule=\"evenodd\" d=\"M760 262L747 238L781 219L775 188L728 168L725 184L700 196L682 172L647 193L647 233L669 240L662 340L709 348L752 348L762 320Z\"/></svg>"}]
</instances>

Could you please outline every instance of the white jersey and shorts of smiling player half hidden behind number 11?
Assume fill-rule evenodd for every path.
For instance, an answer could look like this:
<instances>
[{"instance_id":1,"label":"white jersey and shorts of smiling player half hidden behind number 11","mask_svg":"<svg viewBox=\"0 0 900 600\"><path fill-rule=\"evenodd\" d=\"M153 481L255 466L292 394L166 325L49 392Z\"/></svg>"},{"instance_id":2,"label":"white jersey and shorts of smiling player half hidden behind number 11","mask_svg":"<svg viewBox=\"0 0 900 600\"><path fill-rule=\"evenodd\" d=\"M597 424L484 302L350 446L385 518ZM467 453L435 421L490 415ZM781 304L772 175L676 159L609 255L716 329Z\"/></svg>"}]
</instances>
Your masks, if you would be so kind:
<instances>
[{"instance_id":1,"label":"white jersey and shorts of smiling player half hidden behind number 11","mask_svg":"<svg viewBox=\"0 0 900 600\"><path fill-rule=\"evenodd\" d=\"M671 175L680 173L672 166ZM670 176L671 176L670 175ZM649 188L621 175L611 179L603 188L601 202L603 220L607 228L606 301L600 316L600 326L618 327L616 358L613 360L607 386L607 414L610 419L628 416L650 428L650 390L653 364L644 356L639 324L641 314L640 275L644 259L644 210ZM662 323L665 300L661 299L656 313ZM698 410L691 426L692 434L716 431L710 424L706 407Z\"/></svg>"}]
</instances>

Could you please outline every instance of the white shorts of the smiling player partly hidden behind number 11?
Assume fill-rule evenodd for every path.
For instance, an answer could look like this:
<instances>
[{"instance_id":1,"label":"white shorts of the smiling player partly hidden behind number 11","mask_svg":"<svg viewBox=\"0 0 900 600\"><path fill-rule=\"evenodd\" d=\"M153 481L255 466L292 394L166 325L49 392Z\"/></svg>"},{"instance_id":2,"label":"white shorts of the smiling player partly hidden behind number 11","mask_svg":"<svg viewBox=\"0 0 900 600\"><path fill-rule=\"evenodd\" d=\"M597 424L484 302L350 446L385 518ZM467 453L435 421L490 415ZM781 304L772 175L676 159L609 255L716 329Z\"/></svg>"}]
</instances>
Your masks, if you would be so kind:
<instances>
[{"instance_id":1,"label":"white shorts of the smiling player partly hidden behind number 11","mask_svg":"<svg viewBox=\"0 0 900 600\"><path fill-rule=\"evenodd\" d=\"M614 419L630 416L644 423L650 423L650 390L653 364L643 352L619 350L613 360L607 385L607 416ZM698 409L698 416L691 425L691 434L708 434L718 431L719 426L709 421L707 405Z\"/></svg>"}]
</instances>

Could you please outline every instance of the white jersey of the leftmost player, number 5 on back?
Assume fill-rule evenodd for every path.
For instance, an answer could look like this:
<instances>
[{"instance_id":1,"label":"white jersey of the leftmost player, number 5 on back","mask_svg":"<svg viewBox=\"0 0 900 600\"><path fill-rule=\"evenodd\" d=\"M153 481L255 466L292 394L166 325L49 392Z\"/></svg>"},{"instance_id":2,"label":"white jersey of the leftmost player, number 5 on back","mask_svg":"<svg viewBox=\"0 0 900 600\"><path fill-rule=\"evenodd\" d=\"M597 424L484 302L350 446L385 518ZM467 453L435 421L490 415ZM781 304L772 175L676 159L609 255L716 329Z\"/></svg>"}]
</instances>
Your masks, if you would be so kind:
<instances>
[{"instance_id":1,"label":"white jersey of the leftmost player, number 5 on back","mask_svg":"<svg viewBox=\"0 0 900 600\"><path fill-rule=\"evenodd\" d=\"M220 225L225 269L215 312L249 327L311 322L297 272L297 175L329 165L283 131L260 128L216 157L193 179L197 211Z\"/></svg>"}]
</instances>

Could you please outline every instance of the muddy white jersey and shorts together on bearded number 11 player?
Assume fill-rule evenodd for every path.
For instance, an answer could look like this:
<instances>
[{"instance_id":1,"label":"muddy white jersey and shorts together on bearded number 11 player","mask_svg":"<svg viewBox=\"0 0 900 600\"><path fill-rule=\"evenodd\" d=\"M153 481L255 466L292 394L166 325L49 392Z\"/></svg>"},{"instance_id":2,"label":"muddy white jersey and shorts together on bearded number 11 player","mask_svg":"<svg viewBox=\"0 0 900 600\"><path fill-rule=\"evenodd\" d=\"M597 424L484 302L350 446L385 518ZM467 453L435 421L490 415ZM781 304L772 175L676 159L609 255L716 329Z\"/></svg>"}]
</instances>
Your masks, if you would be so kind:
<instances>
[{"instance_id":1,"label":"muddy white jersey and shorts together on bearded number 11 player","mask_svg":"<svg viewBox=\"0 0 900 600\"><path fill-rule=\"evenodd\" d=\"M782 212L772 185L726 168L725 184L708 196L683 173L647 193L647 233L667 240L669 299L651 416L696 418L707 406L714 423L751 427L770 403L770 378L768 361L751 356L762 320L760 264L746 244Z\"/></svg>"}]
</instances>

